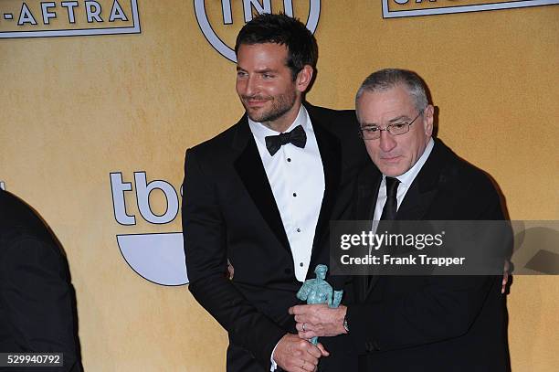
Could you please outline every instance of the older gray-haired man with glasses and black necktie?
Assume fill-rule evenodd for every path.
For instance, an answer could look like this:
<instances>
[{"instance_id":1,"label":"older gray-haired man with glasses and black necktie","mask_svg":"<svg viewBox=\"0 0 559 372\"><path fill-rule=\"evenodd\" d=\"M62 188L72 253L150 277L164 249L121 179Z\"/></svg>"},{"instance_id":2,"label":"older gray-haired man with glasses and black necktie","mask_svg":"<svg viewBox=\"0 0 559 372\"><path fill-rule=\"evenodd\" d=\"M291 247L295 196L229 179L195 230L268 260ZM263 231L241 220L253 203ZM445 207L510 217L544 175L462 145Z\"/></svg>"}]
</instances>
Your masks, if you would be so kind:
<instances>
[{"instance_id":1,"label":"older gray-haired man with glasses and black necktie","mask_svg":"<svg viewBox=\"0 0 559 372\"><path fill-rule=\"evenodd\" d=\"M376 71L358 90L373 163L359 175L354 218L504 219L489 177L432 138L426 90L404 69ZM349 334L360 371L508 370L501 277L362 276L354 289L353 305L292 307L301 338Z\"/></svg>"}]
</instances>

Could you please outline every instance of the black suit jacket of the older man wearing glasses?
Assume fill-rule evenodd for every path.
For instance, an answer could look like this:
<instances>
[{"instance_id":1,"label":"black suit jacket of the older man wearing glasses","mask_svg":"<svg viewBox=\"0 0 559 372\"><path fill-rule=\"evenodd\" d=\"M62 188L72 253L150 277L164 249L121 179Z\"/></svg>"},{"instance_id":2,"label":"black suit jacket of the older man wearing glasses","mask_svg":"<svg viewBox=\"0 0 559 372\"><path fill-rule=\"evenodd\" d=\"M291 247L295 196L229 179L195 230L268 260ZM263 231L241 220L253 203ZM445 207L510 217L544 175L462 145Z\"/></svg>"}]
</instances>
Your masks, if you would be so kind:
<instances>
[{"instance_id":1,"label":"black suit jacket of the older man wearing glasses","mask_svg":"<svg viewBox=\"0 0 559 372\"><path fill-rule=\"evenodd\" d=\"M357 219L372 219L382 175L364 168ZM487 175L442 142L398 208L399 220L504 219ZM355 277L348 309L360 371L503 371L508 366L501 277Z\"/></svg>"}]
</instances>

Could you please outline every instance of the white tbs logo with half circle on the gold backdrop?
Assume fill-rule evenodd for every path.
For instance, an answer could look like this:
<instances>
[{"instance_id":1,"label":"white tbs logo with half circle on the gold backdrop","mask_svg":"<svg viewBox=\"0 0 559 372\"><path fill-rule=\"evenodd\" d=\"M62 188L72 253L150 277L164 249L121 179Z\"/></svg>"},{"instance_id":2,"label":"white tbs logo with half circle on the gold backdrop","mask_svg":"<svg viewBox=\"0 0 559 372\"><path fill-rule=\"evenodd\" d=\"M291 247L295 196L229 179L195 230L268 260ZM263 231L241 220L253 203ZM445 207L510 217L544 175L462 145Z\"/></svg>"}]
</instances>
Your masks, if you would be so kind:
<instances>
[{"instance_id":1,"label":"white tbs logo with half circle on the gold backdrop","mask_svg":"<svg viewBox=\"0 0 559 372\"><path fill-rule=\"evenodd\" d=\"M139 216L126 205L127 193L135 195ZM152 193L163 195L163 211L156 210L157 206L150 202ZM154 225L167 224L179 212L179 195L174 186L160 179L148 181L143 171L134 172L133 185L123 179L121 172L111 173L111 195L114 218L122 226L136 225L138 218ZM181 232L119 234L117 242L124 260L144 279L162 285L188 282Z\"/></svg>"}]
</instances>

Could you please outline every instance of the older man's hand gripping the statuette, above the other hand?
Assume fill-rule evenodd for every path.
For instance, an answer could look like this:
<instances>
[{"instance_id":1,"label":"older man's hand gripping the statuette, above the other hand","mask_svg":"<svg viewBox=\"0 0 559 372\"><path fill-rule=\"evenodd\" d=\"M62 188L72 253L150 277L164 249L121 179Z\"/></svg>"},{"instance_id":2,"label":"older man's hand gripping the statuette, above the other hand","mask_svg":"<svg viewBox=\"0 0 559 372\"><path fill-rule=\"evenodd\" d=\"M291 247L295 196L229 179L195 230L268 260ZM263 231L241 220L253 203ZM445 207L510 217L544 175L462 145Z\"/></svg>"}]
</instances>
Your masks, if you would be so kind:
<instances>
[{"instance_id":1,"label":"older man's hand gripping the statuette, above the other hand","mask_svg":"<svg viewBox=\"0 0 559 372\"><path fill-rule=\"evenodd\" d=\"M343 318L347 307L331 308L327 304L297 305L290 307L290 314L295 315L299 336L309 339L315 336L334 336L346 334Z\"/></svg>"}]
</instances>

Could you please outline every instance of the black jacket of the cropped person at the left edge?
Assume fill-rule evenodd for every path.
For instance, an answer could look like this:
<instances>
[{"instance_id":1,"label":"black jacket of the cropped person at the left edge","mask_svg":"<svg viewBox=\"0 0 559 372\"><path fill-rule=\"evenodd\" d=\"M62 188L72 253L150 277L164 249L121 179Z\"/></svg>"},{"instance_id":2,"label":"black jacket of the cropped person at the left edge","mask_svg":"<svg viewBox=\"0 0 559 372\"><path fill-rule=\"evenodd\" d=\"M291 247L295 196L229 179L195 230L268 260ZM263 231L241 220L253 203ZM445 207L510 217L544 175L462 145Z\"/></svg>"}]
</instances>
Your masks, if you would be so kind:
<instances>
[{"instance_id":1,"label":"black jacket of the cropped person at the left edge","mask_svg":"<svg viewBox=\"0 0 559 372\"><path fill-rule=\"evenodd\" d=\"M68 263L36 213L0 190L0 353L63 353L64 367L0 370L80 371Z\"/></svg>"}]
</instances>

